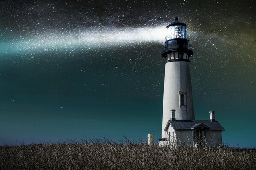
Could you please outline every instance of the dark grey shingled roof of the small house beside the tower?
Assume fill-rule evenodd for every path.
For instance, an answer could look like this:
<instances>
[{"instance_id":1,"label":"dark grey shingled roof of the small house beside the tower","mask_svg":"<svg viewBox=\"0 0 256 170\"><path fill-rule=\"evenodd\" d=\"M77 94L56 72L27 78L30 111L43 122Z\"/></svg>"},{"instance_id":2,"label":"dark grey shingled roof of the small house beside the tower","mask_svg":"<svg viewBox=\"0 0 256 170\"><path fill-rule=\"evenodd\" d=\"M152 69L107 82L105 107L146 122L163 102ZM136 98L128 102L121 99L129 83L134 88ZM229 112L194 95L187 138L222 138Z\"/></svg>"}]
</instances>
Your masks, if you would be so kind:
<instances>
[{"instance_id":1,"label":"dark grey shingled roof of the small house beside the tower","mask_svg":"<svg viewBox=\"0 0 256 170\"><path fill-rule=\"evenodd\" d=\"M170 125L175 130L191 130L199 126L207 127L209 130L225 130L218 121L212 122L210 120L169 120L164 130L166 131Z\"/></svg>"}]
</instances>

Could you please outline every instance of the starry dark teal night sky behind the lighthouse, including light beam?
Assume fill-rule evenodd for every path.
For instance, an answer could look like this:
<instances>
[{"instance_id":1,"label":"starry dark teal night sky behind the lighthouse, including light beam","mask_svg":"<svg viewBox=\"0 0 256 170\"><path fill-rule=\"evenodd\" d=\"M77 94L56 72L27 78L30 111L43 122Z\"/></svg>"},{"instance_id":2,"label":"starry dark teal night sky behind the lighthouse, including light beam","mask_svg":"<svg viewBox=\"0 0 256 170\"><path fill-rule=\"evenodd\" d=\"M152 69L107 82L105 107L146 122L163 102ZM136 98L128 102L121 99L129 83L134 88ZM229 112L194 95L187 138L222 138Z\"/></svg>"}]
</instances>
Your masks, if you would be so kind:
<instances>
[{"instance_id":1,"label":"starry dark teal night sky behind the lighthouse, including light beam","mask_svg":"<svg viewBox=\"0 0 256 170\"><path fill-rule=\"evenodd\" d=\"M160 138L166 26L188 25L195 119L256 147L253 0L1 0L0 144Z\"/></svg>"}]
</instances>

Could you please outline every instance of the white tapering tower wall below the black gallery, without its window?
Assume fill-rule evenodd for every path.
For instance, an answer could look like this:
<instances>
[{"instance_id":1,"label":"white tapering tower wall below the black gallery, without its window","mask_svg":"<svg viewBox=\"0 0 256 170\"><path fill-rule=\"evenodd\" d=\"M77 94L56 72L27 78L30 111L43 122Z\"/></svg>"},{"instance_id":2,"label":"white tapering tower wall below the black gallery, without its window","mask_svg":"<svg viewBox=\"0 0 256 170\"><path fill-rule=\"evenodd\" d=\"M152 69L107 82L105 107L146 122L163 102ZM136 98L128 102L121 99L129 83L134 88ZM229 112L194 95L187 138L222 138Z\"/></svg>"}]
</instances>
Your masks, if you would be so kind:
<instances>
[{"instance_id":1,"label":"white tapering tower wall below the black gallery, without its window","mask_svg":"<svg viewBox=\"0 0 256 170\"><path fill-rule=\"evenodd\" d=\"M186 91L186 107L180 108L179 91ZM194 120L191 76L189 62L173 61L165 64L164 92L163 92L163 119L162 137L164 128L171 118L172 109L175 109L176 120Z\"/></svg>"}]
</instances>

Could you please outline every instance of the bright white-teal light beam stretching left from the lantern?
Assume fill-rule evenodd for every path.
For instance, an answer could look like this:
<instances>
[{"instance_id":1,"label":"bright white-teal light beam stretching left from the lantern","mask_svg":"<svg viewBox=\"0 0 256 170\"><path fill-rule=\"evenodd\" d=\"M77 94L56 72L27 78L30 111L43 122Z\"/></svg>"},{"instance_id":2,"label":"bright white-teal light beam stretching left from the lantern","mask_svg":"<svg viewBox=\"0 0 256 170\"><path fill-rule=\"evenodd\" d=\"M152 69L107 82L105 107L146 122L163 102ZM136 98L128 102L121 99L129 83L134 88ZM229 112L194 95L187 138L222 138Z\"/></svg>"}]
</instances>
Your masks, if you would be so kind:
<instances>
[{"instance_id":1,"label":"bright white-teal light beam stretching left from the lantern","mask_svg":"<svg viewBox=\"0 0 256 170\"><path fill-rule=\"evenodd\" d=\"M95 48L99 46L126 45L138 42L163 43L167 35L165 25L155 28L105 28L88 31L55 32L38 34L12 42L2 42L0 53L30 53L72 48Z\"/></svg>"}]
</instances>

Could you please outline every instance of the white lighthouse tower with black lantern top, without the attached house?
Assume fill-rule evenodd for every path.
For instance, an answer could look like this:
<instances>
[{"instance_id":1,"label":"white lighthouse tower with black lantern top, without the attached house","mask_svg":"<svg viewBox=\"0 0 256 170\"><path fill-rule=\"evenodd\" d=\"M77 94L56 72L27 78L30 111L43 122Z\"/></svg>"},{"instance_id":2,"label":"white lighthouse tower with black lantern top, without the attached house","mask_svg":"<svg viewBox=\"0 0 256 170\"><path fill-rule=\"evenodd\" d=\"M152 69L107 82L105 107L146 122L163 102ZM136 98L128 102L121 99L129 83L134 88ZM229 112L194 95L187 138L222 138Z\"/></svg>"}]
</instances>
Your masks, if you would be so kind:
<instances>
[{"instance_id":1,"label":"white lighthouse tower with black lantern top, without the attached house","mask_svg":"<svg viewBox=\"0 0 256 170\"><path fill-rule=\"evenodd\" d=\"M163 92L162 138L165 138L164 128L170 118L171 110L175 110L176 120L194 120L189 57L192 56L192 46L186 37L186 24L178 21L169 24L168 36L162 49L165 58L165 77Z\"/></svg>"}]
</instances>

